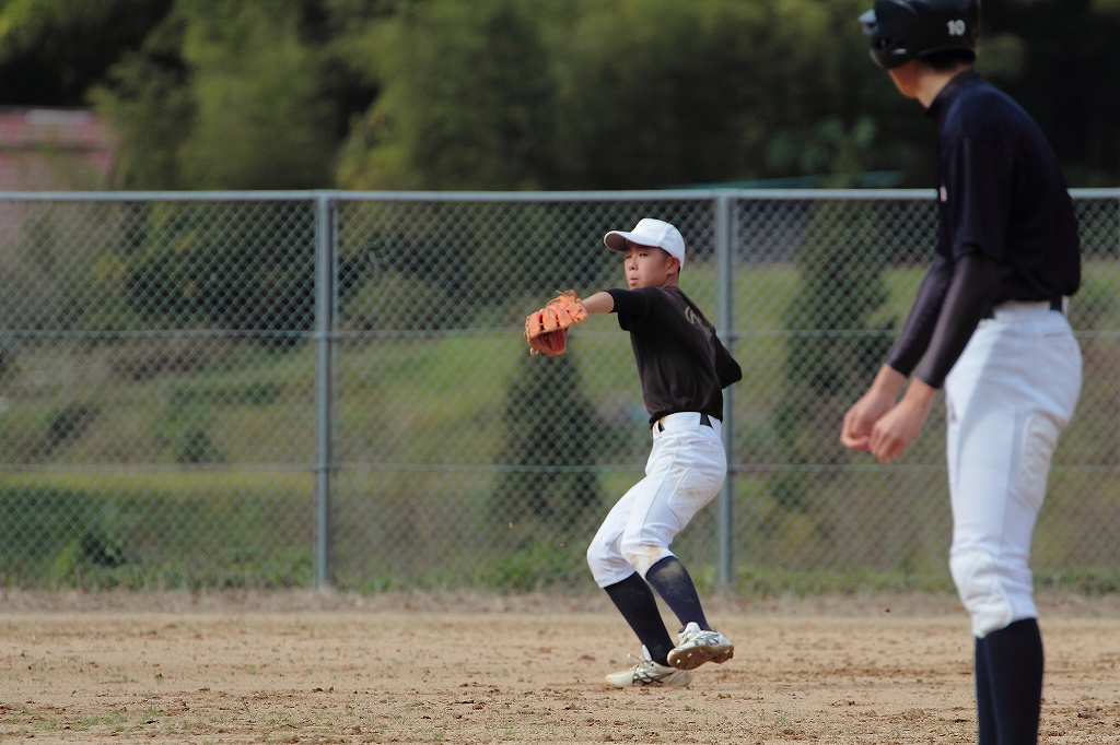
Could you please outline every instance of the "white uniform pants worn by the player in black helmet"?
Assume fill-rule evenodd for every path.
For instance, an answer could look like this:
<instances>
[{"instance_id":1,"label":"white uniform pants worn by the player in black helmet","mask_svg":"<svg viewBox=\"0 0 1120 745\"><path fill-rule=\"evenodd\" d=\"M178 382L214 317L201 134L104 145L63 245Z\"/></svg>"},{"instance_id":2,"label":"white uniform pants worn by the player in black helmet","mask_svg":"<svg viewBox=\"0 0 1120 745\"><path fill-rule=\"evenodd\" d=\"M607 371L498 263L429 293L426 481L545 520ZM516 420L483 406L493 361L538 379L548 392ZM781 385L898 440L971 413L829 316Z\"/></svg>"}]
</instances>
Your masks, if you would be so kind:
<instances>
[{"instance_id":1,"label":"white uniform pants worn by the player in black helmet","mask_svg":"<svg viewBox=\"0 0 1120 745\"><path fill-rule=\"evenodd\" d=\"M1030 539L1081 393L1081 350L1065 315L1049 303L1006 303L995 315L945 380L949 566L978 638L1037 617Z\"/></svg>"}]
</instances>

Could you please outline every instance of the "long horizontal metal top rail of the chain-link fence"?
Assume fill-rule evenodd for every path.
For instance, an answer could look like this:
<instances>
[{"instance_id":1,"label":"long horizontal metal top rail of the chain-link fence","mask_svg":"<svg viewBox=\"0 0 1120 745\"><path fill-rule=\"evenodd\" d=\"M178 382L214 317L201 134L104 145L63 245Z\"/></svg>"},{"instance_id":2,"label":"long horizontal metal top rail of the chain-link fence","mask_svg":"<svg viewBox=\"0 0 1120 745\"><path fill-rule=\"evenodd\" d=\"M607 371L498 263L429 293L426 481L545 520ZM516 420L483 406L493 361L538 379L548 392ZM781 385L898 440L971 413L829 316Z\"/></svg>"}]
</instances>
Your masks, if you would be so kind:
<instances>
[{"instance_id":1,"label":"long horizontal metal top rail of the chain-link fence","mask_svg":"<svg viewBox=\"0 0 1120 745\"><path fill-rule=\"evenodd\" d=\"M1120 199L1117 189L1070 189L1074 199ZM631 191L0 191L4 201L759 201L933 200L933 189L660 189Z\"/></svg>"}]
</instances>

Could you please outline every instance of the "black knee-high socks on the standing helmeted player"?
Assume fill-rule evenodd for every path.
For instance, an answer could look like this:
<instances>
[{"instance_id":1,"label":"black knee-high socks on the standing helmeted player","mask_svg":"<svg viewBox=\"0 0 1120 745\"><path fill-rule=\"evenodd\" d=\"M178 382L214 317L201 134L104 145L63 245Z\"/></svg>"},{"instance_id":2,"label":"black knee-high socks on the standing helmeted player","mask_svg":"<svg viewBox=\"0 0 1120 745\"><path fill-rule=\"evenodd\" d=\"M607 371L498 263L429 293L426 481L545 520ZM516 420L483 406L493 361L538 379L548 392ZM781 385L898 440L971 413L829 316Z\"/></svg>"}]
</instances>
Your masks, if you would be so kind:
<instances>
[{"instance_id":1,"label":"black knee-high socks on the standing helmeted player","mask_svg":"<svg viewBox=\"0 0 1120 745\"><path fill-rule=\"evenodd\" d=\"M988 723L981 667L988 679ZM1016 621L977 640L980 745L1036 745L1042 699L1043 638L1035 619Z\"/></svg>"}]
</instances>

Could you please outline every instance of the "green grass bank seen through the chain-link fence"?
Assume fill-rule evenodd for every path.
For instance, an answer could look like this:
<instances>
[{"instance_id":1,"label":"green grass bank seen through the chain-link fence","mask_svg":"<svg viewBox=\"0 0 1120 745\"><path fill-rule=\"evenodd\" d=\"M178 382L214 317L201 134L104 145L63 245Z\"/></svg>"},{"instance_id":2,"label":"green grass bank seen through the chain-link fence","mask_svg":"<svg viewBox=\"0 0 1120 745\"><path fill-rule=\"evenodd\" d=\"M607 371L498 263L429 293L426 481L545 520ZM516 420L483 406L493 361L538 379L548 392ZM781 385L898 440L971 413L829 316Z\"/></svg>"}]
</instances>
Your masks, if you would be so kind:
<instances>
[{"instance_id":1,"label":"green grass bank seen through the chain-link fence","mask_svg":"<svg viewBox=\"0 0 1120 745\"><path fill-rule=\"evenodd\" d=\"M1111 300L1120 268L1090 263L1085 274L1074 320L1120 328ZM887 272L889 301L877 320L900 323L922 275ZM749 466L736 482L739 588L946 587L940 422L931 419L899 466L877 469L857 455L853 468L806 477L804 504L775 500L771 422L785 385L783 319L797 275L776 266L743 272L736 283L745 372L735 392L737 460ZM684 285L713 317L710 267L690 266ZM515 304L495 317L516 318ZM1086 315L1092 309L1100 312ZM1080 468L1114 463L1120 452L1109 343L1086 342L1081 412L1060 451L1035 551L1039 582L1086 592L1117 586L1114 573L1091 567L1114 562L1120 480ZM343 586L590 587L582 548L641 478L648 441L628 338L615 319L592 318L571 347L604 417L596 468L605 502L559 535L543 524L502 530L487 515L505 392L526 353L515 329L339 345L334 566ZM58 342L17 359L0 378L0 462L26 465L0 471L0 577L95 587L310 582L314 349L224 349L202 369L142 380L105 372L138 353L128 346ZM217 462L181 462L190 453ZM701 512L674 546L709 587L713 515Z\"/></svg>"}]
</instances>

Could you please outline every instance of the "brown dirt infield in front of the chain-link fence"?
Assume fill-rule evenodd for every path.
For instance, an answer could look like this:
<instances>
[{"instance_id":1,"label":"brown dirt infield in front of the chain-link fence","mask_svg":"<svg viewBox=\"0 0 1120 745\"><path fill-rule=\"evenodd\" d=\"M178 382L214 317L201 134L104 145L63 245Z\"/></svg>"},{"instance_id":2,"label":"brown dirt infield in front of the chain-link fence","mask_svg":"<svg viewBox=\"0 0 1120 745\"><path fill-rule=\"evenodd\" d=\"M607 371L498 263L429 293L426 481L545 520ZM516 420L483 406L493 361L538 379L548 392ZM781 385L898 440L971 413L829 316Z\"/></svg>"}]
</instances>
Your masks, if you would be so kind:
<instances>
[{"instance_id":1,"label":"brown dirt infield in front of the chain-link fence","mask_svg":"<svg viewBox=\"0 0 1120 745\"><path fill-rule=\"evenodd\" d=\"M687 690L604 689L636 650L598 606L18 600L0 603L4 742L976 742L968 623L944 598L896 598L890 613L889 598L862 600L861 616L821 615L822 601L716 604L736 657ZM1120 741L1113 605L1044 619L1042 742Z\"/></svg>"}]
</instances>

